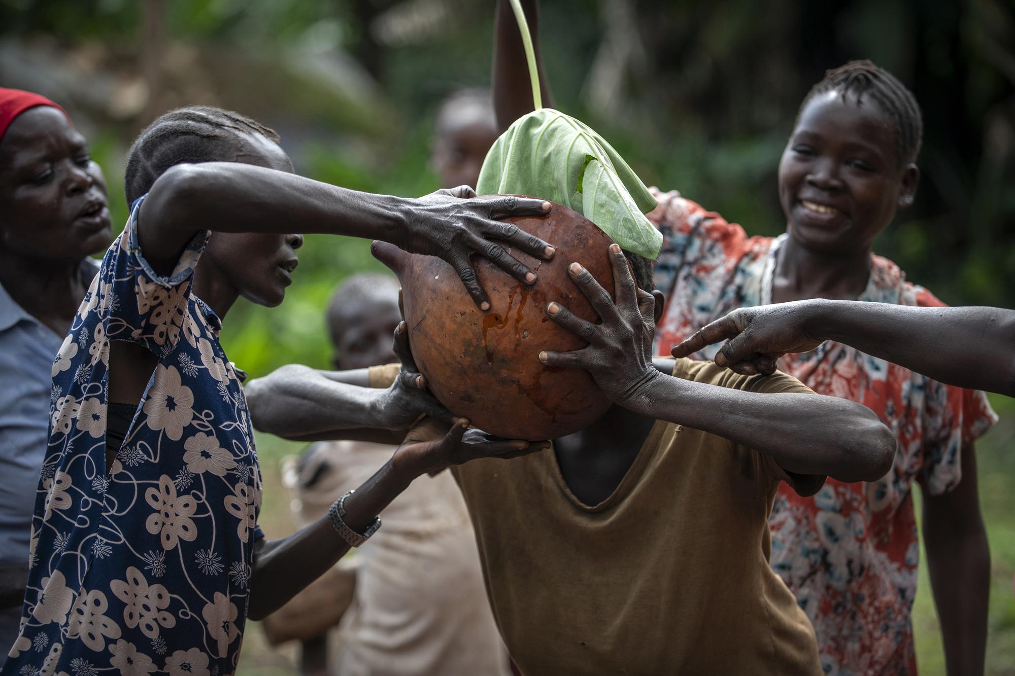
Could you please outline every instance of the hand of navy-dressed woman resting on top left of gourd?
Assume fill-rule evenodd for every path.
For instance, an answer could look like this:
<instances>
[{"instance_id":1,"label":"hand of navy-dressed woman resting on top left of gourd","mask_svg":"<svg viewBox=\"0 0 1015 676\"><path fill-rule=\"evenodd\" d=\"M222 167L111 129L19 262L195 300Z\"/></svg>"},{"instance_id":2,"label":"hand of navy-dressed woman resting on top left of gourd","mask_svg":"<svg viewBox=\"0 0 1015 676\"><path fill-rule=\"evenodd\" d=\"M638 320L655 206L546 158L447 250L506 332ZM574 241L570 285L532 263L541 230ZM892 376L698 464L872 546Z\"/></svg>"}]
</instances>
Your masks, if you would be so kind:
<instances>
[{"instance_id":1,"label":"hand of navy-dressed woman resting on top left of gourd","mask_svg":"<svg viewBox=\"0 0 1015 676\"><path fill-rule=\"evenodd\" d=\"M393 244L413 254L443 258L458 272L476 305L486 311L490 308L489 298L469 258L478 254L520 282L534 283L536 274L493 240L517 247L542 261L553 257L553 248L515 223L502 223L497 219L545 216L549 210L550 203L544 200L510 195L478 199L476 191L468 186L438 190L415 201L405 241Z\"/></svg>"}]
</instances>

